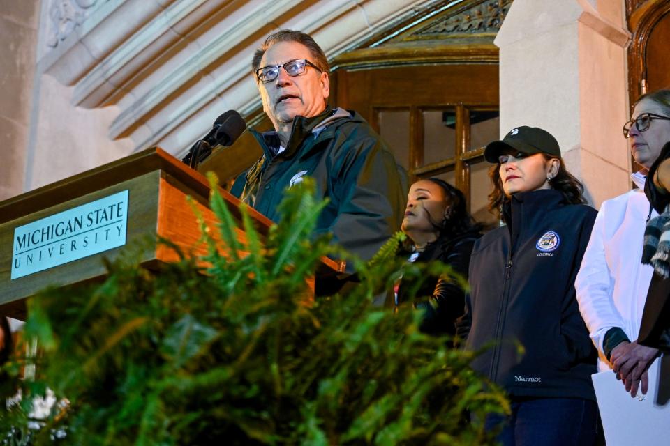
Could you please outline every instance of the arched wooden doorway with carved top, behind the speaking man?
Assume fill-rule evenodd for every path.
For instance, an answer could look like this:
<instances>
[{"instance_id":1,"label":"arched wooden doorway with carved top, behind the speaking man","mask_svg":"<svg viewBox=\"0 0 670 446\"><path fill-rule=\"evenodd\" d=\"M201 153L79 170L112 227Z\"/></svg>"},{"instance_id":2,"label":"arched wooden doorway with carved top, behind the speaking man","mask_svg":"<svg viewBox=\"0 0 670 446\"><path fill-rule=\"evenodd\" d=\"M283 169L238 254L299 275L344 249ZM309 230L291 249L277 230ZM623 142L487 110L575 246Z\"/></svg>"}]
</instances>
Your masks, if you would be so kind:
<instances>
[{"instance_id":1,"label":"arched wooden doorway with carved top, behind the speaking man","mask_svg":"<svg viewBox=\"0 0 670 446\"><path fill-rule=\"evenodd\" d=\"M362 114L410 180L437 176L458 187L488 226L498 223L486 210L489 164L483 159L484 145L500 134L493 38L511 4L440 1L332 61L331 104ZM248 122L271 127L261 110ZM242 169L257 149L243 135L234 146L235 166L229 157L227 166L217 167L213 157L201 170Z\"/></svg>"}]
</instances>

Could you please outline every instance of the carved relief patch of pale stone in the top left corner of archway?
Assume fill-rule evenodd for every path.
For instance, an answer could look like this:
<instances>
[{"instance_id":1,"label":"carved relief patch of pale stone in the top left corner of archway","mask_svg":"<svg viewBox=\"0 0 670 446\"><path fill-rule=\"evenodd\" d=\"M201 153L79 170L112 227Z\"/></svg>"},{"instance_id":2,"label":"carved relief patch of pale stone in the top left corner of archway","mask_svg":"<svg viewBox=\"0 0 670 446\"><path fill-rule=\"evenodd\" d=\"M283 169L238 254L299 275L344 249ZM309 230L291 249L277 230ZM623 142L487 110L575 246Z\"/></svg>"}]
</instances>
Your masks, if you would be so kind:
<instances>
[{"instance_id":1,"label":"carved relief patch of pale stone in the top left corner of archway","mask_svg":"<svg viewBox=\"0 0 670 446\"><path fill-rule=\"evenodd\" d=\"M108 0L51 0L49 3L49 31L47 34L47 47L58 46L61 40L70 36L77 26L86 20L86 17L98 6Z\"/></svg>"}]
</instances>

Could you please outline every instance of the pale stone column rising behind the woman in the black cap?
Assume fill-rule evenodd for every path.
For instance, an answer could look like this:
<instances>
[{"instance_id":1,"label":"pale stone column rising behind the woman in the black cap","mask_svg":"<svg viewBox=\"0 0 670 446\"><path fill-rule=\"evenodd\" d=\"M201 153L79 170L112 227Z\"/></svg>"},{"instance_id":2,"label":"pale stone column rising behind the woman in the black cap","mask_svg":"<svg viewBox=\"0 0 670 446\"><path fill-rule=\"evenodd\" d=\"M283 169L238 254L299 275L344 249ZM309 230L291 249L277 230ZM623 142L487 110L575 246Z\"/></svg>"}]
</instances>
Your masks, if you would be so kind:
<instances>
[{"instance_id":1,"label":"pale stone column rising behind the woman in the black cap","mask_svg":"<svg viewBox=\"0 0 670 446\"><path fill-rule=\"evenodd\" d=\"M625 10L619 0L514 0L500 47L500 133L544 128L596 207L630 189Z\"/></svg>"}]
</instances>

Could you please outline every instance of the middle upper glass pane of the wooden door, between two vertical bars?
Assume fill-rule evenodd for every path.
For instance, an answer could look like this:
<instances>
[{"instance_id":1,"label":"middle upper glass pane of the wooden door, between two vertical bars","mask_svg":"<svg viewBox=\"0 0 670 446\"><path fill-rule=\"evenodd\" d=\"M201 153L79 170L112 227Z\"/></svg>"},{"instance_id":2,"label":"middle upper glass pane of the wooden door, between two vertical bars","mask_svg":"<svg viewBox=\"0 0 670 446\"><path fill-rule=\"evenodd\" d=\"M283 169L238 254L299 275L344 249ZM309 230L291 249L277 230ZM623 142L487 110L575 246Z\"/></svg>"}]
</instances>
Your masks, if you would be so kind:
<instances>
[{"instance_id":1,"label":"middle upper glass pane of the wooden door, between two vertical bars","mask_svg":"<svg viewBox=\"0 0 670 446\"><path fill-rule=\"evenodd\" d=\"M426 110L424 118L424 166L454 156L456 147L456 113Z\"/></svg>"}]
</instances>

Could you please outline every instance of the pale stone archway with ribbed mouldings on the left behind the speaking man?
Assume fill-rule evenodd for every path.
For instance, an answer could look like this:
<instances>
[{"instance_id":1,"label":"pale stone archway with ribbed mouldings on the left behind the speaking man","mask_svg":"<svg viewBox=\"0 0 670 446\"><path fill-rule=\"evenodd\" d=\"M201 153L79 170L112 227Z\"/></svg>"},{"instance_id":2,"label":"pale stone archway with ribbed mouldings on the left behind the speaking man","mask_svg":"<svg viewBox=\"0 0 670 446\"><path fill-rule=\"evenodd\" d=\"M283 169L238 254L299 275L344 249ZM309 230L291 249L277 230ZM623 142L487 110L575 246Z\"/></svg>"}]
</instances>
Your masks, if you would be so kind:
<instances>
[{"instance_id":1,"label":"pale stone archway with ribbed mouldings on the left behind the speaking man","mask_svg":"<svg viewBox=\"0 0 670 446\"><path fill-rule=\"evenodd\" d=\"M41 3L24 190L154 145L181 157L225 110L255 112L251 56L273 31L333 58L438 0Z\"/></svg>"}]
</instances>

